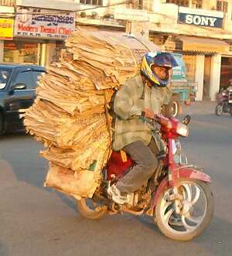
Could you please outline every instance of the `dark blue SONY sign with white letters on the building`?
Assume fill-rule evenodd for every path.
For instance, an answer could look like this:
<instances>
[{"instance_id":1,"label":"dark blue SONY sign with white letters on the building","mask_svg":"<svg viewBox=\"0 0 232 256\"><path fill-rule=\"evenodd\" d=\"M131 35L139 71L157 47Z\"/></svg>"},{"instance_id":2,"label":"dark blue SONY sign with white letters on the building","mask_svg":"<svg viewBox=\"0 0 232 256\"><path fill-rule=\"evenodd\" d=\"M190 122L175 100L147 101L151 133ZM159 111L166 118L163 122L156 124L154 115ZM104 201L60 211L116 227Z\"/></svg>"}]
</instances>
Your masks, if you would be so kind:
<instances>
[{"instance_id":1,"label":"dark blue SONY sign with white letters on the building","mask_svg":"<svg viewBox=\"0 0 232 256\"><path fill-rule=\"evenodd\" d=\"M179 7L178 22L195 26L222 28L223 12Z\"/></svg>"}]
</instances>

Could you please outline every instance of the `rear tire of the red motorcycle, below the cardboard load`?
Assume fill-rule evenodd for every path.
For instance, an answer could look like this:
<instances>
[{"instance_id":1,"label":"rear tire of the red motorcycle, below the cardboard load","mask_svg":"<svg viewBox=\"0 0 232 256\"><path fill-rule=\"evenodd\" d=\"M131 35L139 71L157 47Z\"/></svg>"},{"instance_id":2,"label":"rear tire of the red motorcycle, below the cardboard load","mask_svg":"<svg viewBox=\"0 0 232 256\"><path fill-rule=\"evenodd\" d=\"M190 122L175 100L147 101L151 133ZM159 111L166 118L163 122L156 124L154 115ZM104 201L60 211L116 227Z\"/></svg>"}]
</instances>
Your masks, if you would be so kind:
<instances>
[{"instance_id":1,"label":"rear tire of the red motorcycle, below the cardboard load","mask_svg":"<svg viewBox=\"0 0 232 256\"><path fill-rule=\"evenodd\" d=\"M80 215L90 220L98 220L107 213L107 207L90 207L90 204L94 204L93 200L83 198L81 200L77 200L77 210Z\"/></svg>"}]
</instances>

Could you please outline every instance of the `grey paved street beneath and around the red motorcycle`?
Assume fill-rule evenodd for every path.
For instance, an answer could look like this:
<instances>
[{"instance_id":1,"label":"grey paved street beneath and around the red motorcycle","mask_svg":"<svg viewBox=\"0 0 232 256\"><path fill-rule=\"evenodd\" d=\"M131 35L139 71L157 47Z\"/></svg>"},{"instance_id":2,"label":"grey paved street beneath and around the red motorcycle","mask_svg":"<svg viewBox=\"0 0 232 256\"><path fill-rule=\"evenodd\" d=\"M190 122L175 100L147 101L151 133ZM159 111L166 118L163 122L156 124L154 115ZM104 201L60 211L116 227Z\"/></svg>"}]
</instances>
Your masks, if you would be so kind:
<instances>
[{"instance_id":1,"label":"grey paved street beneath and around the red motorcycle","mask_svg":"<svg viewBox=\"0 0 232 256\"><path fill-rule=\"evenodd\" d=\"M86 220L75 200L43 187L47 162L33 138L0 138L1 256L223 255L232 253L232 118L217 117L215 103L193 103L189 162L204 166L213 180L215 214L210 227L190 242L164 237L148 217L107 216Z\"/></svg>"}]
</instances>

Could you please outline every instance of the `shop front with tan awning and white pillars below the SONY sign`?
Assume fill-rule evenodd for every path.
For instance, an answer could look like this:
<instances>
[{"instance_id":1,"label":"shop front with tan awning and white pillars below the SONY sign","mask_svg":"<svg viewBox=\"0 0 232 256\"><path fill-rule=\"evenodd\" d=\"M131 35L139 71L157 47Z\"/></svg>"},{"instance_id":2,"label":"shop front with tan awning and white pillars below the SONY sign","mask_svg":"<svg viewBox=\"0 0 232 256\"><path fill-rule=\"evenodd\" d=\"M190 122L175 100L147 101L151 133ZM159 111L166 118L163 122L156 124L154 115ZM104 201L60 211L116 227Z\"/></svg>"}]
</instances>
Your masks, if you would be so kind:
<instances>
[{"instance_id":1,"label":"shop front with tan awning and white pillars below the SONY sign","mask_svg":"<svg viewBox=\"0 0 232 256\"><path fill-rule=\"evenodd\" d=\"M220 39L196 36L179 36L179 39L183 43L186 66L193 67L198 84L196 101L214 101L220 90L221 56L228 52L229 45Z\"/></svg>"}]
</instances>

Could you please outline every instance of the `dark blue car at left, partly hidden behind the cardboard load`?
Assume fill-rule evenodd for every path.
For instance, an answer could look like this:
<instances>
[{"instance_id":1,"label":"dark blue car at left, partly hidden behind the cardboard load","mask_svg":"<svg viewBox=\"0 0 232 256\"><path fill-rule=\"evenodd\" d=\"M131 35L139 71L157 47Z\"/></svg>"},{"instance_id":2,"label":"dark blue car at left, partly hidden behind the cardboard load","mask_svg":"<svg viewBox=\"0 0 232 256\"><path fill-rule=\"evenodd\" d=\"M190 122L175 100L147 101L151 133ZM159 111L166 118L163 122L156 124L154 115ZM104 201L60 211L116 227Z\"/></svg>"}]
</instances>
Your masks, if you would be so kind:
<instances>
[{"instance_id":1,"label":"dark blue car at left, partly hidden behind the cardboard load","mask_svg":"<svg viewBox=\"0 0 232 256\"><path fill-rule=\"evenodd\" d=\"M19 109L29 108L44 67L0 63L0 134L23 128Z\"/></svg>"}]
</instances>

